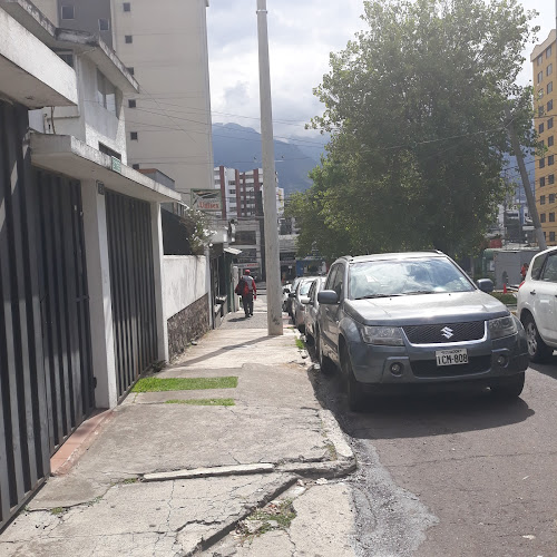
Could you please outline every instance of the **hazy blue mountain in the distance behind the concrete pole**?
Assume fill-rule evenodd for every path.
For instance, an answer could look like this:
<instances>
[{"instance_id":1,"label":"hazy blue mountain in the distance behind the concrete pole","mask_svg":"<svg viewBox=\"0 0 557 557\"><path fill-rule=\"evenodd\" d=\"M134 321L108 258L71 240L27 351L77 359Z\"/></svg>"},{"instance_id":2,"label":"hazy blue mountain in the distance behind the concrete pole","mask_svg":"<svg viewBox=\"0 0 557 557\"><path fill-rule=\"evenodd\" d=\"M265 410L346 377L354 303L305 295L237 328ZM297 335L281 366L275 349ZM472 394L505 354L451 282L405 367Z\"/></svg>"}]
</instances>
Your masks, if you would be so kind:
<instances>
[{"instance_id":1,"label":"hazy blue mountain in the distance behind the concrete pole","mask_svg":"<svg viewBox=\"0 0 557 557\"><path fill-rule=\"evenodd\" d=\"M303 140L306 141L304 147ZM319 165L322 147L313 139L302 138L294 138L293 143L275 139L274 146L278 186L284 188L286 195L307 189L312 185L307 174ZM223 165L240 172L261 168L261 134L238 124L214 124L213 154L215 166Z\"/></svg>"}]
</instances>

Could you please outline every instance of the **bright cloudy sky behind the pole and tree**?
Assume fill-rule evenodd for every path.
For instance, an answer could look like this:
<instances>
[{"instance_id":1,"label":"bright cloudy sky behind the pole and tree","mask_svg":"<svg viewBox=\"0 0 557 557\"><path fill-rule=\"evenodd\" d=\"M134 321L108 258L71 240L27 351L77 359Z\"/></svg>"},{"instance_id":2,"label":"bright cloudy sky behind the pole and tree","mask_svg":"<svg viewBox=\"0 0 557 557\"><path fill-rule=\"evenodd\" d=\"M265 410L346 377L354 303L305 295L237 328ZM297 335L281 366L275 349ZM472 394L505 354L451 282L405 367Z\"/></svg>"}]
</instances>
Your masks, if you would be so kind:
<instances>
[{"instance_id":1,"label":"bright cloudy sky behind the pole and tree","mask_svg":"<svg viewBox=\"0 0 557 557\"><path fill-rule=\"evenodd\" d=\"M541 42L555 27L555 3L521 3L540 12L535 22L541 28ZM255 9L256 0L209 0L207 28L213 121L235 121L258 130ZM312 89L329 71L329 53L343 49L363 29L363 0L267 0L267 10L275 136L307 137L304 124L322 111ZM531 79L526 55L524 85Z\"/></svg>"}]
</instances>

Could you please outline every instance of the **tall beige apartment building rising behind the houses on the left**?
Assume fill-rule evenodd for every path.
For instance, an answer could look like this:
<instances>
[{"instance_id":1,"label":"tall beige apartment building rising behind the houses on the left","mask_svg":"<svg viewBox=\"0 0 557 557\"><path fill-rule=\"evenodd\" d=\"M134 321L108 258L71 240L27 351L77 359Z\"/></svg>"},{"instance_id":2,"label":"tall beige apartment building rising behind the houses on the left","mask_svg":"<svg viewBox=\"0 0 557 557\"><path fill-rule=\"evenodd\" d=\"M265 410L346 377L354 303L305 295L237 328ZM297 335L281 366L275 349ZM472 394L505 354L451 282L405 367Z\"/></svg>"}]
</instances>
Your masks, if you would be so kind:
<instances>
[{"instance_id":1,"label":"tall beige apartment building rising behind the houses on the left","mask_svg":"<svg viewBox=\"0 0 557 557\"><path fill-rule=\"evenodd\" d=\"M135 169L158 168L178 192L213 188L208 0L38 0L59 27L99 35L140 84L120 101ZM95 99L91 99L94 102Z\"/></svg>"}]
</instances>

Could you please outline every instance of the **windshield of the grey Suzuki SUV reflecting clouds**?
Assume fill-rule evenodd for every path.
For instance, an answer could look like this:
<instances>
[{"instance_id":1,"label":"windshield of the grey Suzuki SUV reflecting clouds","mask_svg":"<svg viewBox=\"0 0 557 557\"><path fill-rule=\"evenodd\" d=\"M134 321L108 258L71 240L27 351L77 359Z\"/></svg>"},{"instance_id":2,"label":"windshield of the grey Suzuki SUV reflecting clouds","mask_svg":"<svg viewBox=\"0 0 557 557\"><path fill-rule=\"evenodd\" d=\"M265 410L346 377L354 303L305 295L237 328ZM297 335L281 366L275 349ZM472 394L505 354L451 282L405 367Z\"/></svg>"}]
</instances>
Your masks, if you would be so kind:
<instances>
[{"instance_id":1,"label":"windshield of the grey Suzuki SUV reflecting clouds","mask_svg":"<svg viewBox=\"0 0 557 557\"><path fill-rule=\"evenodd\" d=\"M468 277L444 257L367 261L350 265L352 300L472 290L475 286Z\"/></svg>"}]
</instances>

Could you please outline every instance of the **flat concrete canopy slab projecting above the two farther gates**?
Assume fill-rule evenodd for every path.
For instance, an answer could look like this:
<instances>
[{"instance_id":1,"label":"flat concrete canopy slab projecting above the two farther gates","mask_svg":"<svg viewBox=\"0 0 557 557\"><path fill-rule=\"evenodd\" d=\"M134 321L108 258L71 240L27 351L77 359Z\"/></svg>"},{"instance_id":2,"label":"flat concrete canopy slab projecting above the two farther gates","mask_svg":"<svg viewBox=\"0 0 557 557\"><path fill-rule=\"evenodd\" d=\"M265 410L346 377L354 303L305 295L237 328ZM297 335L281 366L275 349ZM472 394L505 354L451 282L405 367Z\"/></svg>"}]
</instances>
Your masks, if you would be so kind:
<instances>
[{"instance_id":1,"label":"flat concrete canopy slab projecting above the two farther gates","mask_svg":"<svg viewBox=\"0 0 557 557\"><path fill-rule=\"evenodd\" d=\"M31 164L71 178L101 182L107 189L136 199L159 203L182 201L179 193L72 136L32 134Z\"/></svg>"}]
</instances>

